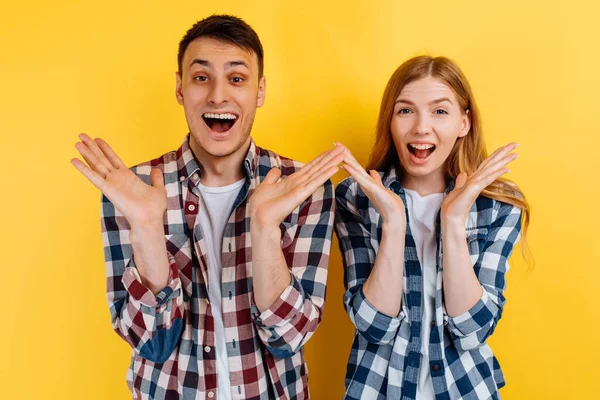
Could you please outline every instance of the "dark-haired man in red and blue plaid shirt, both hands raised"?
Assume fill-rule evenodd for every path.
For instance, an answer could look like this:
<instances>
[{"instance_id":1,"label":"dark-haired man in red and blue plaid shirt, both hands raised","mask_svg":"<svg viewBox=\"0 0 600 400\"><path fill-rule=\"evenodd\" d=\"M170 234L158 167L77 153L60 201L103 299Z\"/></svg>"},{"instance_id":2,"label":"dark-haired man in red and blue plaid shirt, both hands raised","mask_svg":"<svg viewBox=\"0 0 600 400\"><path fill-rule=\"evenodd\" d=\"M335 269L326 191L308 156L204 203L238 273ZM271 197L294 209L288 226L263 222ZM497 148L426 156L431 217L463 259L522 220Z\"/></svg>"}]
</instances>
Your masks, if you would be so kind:
<instances>
[{"instance_id":1,"label":"dark-haired man in red and blue plaid shirt, both hands raised","mask_svg":"<svg viewBox=\"0 0 600 400\"><path fill-rule=\"evenodd\" d=\"M323 311L343 148L301 168L250 136L265 100L263 49L213 15L179 45L176 96L190 133L133 167L80 135L104 194L113 327L133 348L134 398L305 399L302 347Z\"/></svg>"}]
</instances>

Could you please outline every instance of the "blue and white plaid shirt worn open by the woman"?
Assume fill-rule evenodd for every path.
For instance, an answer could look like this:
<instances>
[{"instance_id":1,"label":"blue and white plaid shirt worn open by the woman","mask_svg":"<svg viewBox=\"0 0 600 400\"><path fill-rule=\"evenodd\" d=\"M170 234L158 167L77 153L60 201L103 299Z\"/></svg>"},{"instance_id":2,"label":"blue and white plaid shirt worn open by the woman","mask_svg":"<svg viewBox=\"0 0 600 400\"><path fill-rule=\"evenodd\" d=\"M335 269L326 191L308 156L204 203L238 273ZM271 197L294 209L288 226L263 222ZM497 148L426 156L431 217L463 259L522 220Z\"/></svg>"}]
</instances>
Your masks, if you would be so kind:
<instances>
[{"instance_id":1,"label":"blue and white plaid shirt worn open by the woman","mask_svg":"<svg viewBox=\"0 0 600 400\"><path fill-rule=\"evenodd\" d=\"M380 175L384 186L406 204L395 170ZM453 187L452 183L446 193ZM337 187L336 202L336 232L347 289L344 304L356 326L345 399L414 399L419 368L429 368L437 400L499 399L504 377L486 340L502 316L508 258L520 237L521 210L483 196L475 201L467 218L466 240L483 295L457 317L448 316L443 304L438 213L435 318L422 321L423 277L410 225L406 227L402 309L391 318L369 304L362 290L381 241L381 216L351 178ZM422 323L432 325L429 365L421 365Z\"/></svg>"}]
</instances>

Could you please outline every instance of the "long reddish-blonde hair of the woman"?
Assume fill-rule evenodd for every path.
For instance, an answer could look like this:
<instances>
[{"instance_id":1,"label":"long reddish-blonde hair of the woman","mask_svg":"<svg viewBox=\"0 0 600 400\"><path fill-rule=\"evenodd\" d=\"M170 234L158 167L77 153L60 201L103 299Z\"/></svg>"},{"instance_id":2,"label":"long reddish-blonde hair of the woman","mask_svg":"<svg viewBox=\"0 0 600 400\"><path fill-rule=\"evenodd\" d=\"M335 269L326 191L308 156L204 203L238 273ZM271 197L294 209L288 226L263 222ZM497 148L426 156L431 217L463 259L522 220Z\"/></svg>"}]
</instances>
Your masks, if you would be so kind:
<instances>
[{"instance_id":1,"label":"long reddish-blonde hair of the woman","mask_svg":"<svg viewBox=\"0 0 600 400\"><path fill-rule=\"evenodd\" d=\"M398 158L398 152L392 141L391 133L394 104L407 84L426 77L436 78L448 86L456 95L462 110L464 112L468 110L471 117L469 133L457 139L446 160L446 181L450 182L456 179L461 172L465 172L470 176L487 158L488 153L483 141L479 109L475 104L471 86L463 72L454 61L446 57L418 56L409 59L398 67L383 92L377 121L375 146L371 152L367 171L374 169L385 172L394 167L398 176L402 179L405 171ZM522 209L523 245L521 248L525 260L531 265L532 259L525 241L531 208L523 192L510 180L499 178L486 187L481 194Z\"/></svg>"}]
</instances>

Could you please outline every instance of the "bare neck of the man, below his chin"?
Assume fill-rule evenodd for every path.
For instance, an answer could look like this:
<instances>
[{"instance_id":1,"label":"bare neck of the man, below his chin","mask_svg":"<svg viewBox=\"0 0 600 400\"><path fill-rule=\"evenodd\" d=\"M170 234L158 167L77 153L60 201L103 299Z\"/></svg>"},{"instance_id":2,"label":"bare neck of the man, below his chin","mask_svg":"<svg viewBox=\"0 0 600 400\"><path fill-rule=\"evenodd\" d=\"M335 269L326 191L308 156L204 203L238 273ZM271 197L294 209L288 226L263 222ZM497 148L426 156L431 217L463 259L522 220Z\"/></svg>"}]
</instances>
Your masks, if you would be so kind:
<instances>
[{"instance_id":1,"label":"bare neck of the man, below his chin","mask_svg":"<svg viewBox=\"0 0 600 400\"><path fill-rule=\"evenodd\" d=\"M202 184L204 186L231 185L240 181L246 175L244 160L250 148L250 136L239 149L225 156L215 156L207 153L191 136L190 147L196 160L200 163Z\"/></svg>"}]
</instances>

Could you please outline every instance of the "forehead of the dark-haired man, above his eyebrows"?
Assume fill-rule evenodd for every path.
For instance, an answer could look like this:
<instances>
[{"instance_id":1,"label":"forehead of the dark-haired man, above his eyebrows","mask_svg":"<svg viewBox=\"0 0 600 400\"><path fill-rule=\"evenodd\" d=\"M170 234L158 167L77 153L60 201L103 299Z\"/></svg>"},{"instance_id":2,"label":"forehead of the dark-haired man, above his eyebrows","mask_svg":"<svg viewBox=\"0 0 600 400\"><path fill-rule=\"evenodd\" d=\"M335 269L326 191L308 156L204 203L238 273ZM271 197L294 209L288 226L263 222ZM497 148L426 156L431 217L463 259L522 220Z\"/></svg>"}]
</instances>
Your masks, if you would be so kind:
<instances>
[{"instance_id":1,"label":"forehead of the dark-haired man, above his eyebrows","mask_svg":"<svg viewBox=\"0 0 600 400\"><path fill-rule=\"evenodd\" d=\"M193 40L183 54L182 68L188 69L195 60L209 61L215 68L222 68L229 61L245 61L251 70L258 69L258 57L254 52L232 43L201 37Z\"/></svg>"}]
</instances>

